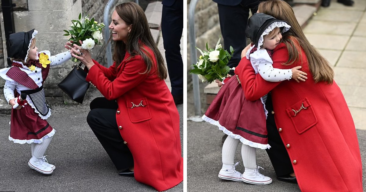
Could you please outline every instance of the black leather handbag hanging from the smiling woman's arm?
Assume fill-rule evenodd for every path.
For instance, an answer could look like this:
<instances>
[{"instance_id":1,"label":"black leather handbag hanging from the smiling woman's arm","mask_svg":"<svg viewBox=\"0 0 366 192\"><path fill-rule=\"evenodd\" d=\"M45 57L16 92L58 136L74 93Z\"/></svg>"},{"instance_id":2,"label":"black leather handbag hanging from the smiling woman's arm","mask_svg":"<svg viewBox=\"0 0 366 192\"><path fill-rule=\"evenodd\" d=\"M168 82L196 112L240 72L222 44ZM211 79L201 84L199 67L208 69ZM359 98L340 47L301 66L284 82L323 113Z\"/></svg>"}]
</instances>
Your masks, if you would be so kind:
<instances>
[{"instance_id":1,"label":"black leather handbag hanging from the smiling woman's arm","mask_svg":"<svg viewBox=\"0 0 366 192\"><path fill-rule=\"evenodd\" d=\"M83 103L89 83L86 79L86 72L81 68L82 63L76 65L74 69L57 86L60 87L72 100Z\"/></svg>"}]
</instances>

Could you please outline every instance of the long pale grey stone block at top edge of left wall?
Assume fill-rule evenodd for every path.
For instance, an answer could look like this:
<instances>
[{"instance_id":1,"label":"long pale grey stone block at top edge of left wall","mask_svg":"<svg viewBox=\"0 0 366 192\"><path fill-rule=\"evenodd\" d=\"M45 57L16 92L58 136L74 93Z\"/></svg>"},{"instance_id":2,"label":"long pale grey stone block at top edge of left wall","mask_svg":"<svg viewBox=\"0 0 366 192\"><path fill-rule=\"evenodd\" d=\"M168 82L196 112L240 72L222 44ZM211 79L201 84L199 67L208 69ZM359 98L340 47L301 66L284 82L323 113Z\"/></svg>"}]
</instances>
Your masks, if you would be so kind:
<instances>
[{"instance_id":1,"label":"long pale grey stone block at top edge of left wall","mask_svg":"<svg viewBox=\"0 0 366 192\"><path fill-rule=\"evenodd\" d=\"M52 3L42 0L32 0L28 4L28 9L29 11L64 11L68 10L73 4L72 0L52 1Z\"/></svg>"}]
</instances>

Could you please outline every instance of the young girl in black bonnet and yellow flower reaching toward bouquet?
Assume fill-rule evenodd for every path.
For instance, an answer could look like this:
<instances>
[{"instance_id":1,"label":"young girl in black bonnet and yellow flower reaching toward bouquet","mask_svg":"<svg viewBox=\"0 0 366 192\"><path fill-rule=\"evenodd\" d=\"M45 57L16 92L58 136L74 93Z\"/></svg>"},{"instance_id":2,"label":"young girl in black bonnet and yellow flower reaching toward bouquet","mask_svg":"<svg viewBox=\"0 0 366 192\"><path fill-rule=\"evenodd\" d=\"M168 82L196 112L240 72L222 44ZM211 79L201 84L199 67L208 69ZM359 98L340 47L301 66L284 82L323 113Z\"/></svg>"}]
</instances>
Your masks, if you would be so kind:
<instances>
[{"instance_id":1,"label":"young girl in black bonnet and yellow flower reaching toward bouquet","mask_svg":"<svg viewBox=\"0 0 366 192\"><path fill-rule=\"evenodd\" d=\"M49 164L44 153L55 134L46 119L51 115L43 90L50 66L60 65L71 59L70 51L51 56L45 50L37 52L37 30L10 34L12 66L0 70L5 79L5 99L12 106L9 140L14 143L30 143L32 157L28 165L43 174L51 174L56 168ZM18 106L17 106L18 105Z\"/></svg>"}]
</instances>

